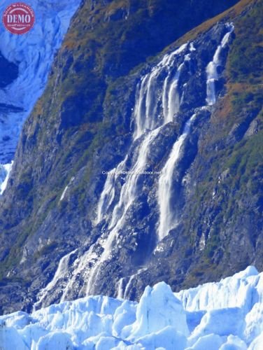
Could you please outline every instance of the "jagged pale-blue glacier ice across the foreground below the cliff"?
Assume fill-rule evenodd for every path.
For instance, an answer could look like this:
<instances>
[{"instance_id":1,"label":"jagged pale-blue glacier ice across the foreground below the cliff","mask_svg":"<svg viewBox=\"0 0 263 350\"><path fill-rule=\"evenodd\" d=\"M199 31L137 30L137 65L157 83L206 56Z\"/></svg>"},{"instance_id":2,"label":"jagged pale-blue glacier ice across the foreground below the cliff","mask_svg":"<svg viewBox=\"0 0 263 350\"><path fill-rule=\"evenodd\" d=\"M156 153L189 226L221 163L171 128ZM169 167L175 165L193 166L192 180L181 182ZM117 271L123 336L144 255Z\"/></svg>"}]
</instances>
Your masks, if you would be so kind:
<instances>
[{"instance_id":1,"label":"jagged pale-blue glacier ice across the foreground below the cliff","mask_svg":"<svg viewBox=\"0 0 263 350\"><path fill-rule=\"evenodd\" d=\"M97 295L0 316L0 349L261 350L262 300L253 266L179 293L160 282L138 303Z\"/></svg>"}]
</instances>

